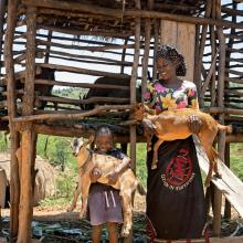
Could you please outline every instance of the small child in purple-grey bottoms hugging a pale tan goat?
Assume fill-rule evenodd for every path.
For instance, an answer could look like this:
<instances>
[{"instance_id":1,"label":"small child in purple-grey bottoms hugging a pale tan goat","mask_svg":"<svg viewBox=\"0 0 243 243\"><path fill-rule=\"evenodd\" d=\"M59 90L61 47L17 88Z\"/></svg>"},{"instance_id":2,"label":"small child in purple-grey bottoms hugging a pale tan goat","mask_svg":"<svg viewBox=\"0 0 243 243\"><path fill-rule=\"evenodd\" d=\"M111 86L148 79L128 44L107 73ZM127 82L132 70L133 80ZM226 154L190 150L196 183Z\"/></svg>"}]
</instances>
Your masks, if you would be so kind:
<instances>
[{"instance_id":1,"label":"small child in purple-grey bottoms hugging a pale tan goat","mask_svg":"<svg viewBox=\"0 0 243 243\"><path fill-rule=\"evenodd\" d=\"M108 126L101 126L95 133L95 152L122 159L120 165L108 175L110 183L116 183L118 176L129 167L130 159L114 147L113 133ZM88 212L92 224L92 242L99 243L103 224L106 223L109 242L118 243L117 224L123 223L119 191L110 186L96 182L102 176L98 168L91 172L93 184L88 194Z\"/></svg>"}]
</instances>

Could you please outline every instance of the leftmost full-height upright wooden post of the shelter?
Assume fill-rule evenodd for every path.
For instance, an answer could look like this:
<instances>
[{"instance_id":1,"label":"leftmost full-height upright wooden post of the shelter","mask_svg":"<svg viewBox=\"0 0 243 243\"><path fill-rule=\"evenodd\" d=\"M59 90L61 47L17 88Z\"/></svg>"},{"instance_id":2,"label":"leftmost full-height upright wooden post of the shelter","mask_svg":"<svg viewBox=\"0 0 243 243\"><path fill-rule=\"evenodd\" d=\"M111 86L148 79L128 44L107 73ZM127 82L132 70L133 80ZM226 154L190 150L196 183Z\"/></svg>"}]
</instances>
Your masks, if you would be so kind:
<instances>
[{"instance_id":1,"label":"leftmost full-height upright wooden post of the shelter","mask_svg":"<svg viewBox=\"0 0 243 243\"><path fill-rule=\"evenodd\" d=\"M10 240L14 241L18 235L19 228L19 201L20 201L20 181L19 181L19 163L15 151L19 147L19 134L15 129L13 118L17 114L15 106L15 78L13 66L13 38L17 19L18 0L9 0L8 2L8 20L4 45L4 62L7 73L7 93L8 93L8 115L10 128L10 144L11 144L11 169L10 169Z\"/></svg>"}]
</instances>

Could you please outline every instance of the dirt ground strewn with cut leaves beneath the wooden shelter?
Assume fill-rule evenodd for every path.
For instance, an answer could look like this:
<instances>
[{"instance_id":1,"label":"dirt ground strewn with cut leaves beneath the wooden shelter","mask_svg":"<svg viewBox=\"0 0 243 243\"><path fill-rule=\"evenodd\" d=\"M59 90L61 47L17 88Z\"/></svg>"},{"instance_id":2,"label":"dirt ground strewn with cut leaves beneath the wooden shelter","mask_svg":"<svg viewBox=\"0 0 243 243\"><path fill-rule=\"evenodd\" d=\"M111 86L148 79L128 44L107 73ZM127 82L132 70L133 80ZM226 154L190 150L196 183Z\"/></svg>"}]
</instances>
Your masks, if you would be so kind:
<instances>
[{"instance_id":1,"label":"dirt ground strewn with cut leaves beneath the wooden shelter","mask_svg":"<svg viewBox=\"0 0 243 243\"><path fill-rule=\"evenodd\" d=\"M85 242L91 243L91 225L86 220L80 220L78 208L74 212L66 212L66 207L35 207L32 222L33 237L42 239L40 242ZM135 216L134 216L134 242L148 242L145 230L145 197L135 194ZM4 228L9 223L9 209L1 211L2 219L8 219ZM212 230L212 221L209 220L209 229ZM222 236L243 235L243 220L237 212L232 209L232 220L222 219ZM211 234L211 233L210 233ZM0 236L4 236L1 235ZM103 232L102 243L107 243L107 232ZM123 241L120 241L123 242Z\"/></svg>"}]
</instances>

